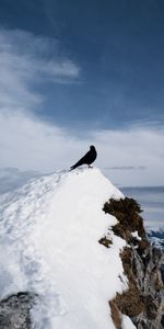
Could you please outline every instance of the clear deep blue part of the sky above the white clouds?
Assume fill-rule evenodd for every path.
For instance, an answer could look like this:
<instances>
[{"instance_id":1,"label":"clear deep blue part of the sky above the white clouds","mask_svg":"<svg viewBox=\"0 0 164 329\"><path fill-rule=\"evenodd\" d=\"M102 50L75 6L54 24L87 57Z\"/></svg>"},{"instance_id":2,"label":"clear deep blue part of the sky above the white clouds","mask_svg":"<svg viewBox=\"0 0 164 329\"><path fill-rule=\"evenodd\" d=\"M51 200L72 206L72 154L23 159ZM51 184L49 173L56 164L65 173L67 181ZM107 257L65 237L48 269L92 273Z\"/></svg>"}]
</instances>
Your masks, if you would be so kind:
<instances>
[{"instance_id":1,"label":"clear deep blue part of the sky above the white clouds","mask_svg":"<svg viewBox=\"0 0 164 329\"><path fill-rule=\"evenodd\" d=\"M0 22L50 38L39 55L57 52L79 69L73 81L34 82L44 94L39 115L71 128L117 128L164 123L163 14L159 0L1 0Z\"/></svg>"}]
</instances>

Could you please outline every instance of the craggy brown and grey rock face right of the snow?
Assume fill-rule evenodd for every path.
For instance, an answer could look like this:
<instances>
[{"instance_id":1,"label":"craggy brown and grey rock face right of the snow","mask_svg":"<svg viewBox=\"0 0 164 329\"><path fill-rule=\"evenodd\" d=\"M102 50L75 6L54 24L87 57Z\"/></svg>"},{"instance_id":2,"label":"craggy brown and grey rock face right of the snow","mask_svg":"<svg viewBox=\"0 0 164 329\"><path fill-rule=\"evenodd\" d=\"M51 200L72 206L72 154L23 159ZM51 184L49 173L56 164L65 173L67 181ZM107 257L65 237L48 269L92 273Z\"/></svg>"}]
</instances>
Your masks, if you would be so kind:
<instances>
[{"instance_id":1,"label":"craggy brown and grey rock face right of the snow","mask_svg":"<svg viewBox=\"0 0 164 329\"><path fill-rule=\"evenodd\" d=\"M116 295L113 299L115 307L117 305L121 314L129 316L138 329L164 328L164 257L147 237L139 204L128 197L120 201L112 198L103 209L119 220L113 230L128 243L120 256L129 290ZM140 239L133 237L134 231Z\"/></svg>"}]
</instances>

